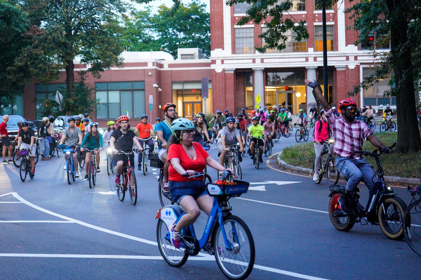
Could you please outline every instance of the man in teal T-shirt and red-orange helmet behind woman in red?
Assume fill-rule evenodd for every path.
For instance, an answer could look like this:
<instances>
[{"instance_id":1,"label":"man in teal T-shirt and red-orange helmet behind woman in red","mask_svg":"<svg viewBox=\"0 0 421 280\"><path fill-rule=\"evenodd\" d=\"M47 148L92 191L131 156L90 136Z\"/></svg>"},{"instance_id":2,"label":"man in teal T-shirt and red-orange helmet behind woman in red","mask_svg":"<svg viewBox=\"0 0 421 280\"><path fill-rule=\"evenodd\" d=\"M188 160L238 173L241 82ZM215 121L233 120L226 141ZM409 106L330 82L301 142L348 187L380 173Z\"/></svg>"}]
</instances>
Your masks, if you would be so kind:
<instances>
[{"instance_id":1,"label":"man in teal T-shirt and red-orange helmet behind woman in red","mask_svg":"<svg viewBox=\"0 0 421 280\"><path fill-rule=\"evenodd\" d=\"M164 181L162 190L164 193L169 193L168 185L168 166L170 163L167 161L168 158L168 141L174 132L171 130L173 121L176 118L176 104L167 103L163 106L162 111L165 115L165 119L155 125L155 131L158 136L158 158L164 163Z\"/></svg>"}]
</instances>

